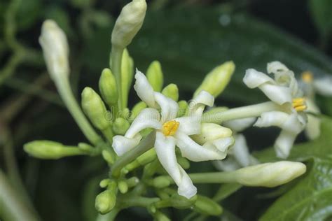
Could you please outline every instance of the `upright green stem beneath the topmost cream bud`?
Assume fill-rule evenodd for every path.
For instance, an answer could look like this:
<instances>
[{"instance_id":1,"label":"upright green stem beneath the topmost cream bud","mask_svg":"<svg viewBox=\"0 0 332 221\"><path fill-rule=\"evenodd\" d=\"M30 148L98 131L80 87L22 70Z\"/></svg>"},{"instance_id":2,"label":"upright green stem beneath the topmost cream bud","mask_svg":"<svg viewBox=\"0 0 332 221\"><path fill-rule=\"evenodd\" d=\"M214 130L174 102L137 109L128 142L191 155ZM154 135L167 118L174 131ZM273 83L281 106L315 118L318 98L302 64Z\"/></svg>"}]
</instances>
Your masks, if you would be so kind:
<instances>
[{"instance_id":1,"label":"upright green stem beneath the topmost cream bud","mask_svg":"<svg viewBox=\"0 0 332 221\"><path fill-rule=\"evenodd\" d=\"M123 111L123 94L122 94L122 84L121 84L121 60L123 55L123 48L118 48L112 46L110 67L116 78L116 86L118 87L118 111L122 113ZM117 112L116 112L117 113Z\"/></svg>"}]
</instances>

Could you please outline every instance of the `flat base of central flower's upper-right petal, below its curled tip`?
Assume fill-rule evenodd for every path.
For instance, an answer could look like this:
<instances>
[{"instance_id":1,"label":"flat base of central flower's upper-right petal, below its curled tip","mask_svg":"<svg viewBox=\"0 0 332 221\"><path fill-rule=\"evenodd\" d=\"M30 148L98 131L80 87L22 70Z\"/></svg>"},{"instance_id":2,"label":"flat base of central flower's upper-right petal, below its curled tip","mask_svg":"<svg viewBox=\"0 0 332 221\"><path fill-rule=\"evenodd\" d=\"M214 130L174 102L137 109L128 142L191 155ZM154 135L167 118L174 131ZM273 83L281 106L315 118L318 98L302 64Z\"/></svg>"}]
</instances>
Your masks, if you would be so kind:
<instances>
[{"instance_id":1,"label":"flat base of central flower's upper-right petal, below its curled tip","mask_svg":"<svg viewBox=\"0 0 332 221\"><path fill-rule=\"evenodd\" d=\"M174 120L180 123L177 132L186 135L200 134L200 116L178 117Z\"/></svg>"}]
</instances>

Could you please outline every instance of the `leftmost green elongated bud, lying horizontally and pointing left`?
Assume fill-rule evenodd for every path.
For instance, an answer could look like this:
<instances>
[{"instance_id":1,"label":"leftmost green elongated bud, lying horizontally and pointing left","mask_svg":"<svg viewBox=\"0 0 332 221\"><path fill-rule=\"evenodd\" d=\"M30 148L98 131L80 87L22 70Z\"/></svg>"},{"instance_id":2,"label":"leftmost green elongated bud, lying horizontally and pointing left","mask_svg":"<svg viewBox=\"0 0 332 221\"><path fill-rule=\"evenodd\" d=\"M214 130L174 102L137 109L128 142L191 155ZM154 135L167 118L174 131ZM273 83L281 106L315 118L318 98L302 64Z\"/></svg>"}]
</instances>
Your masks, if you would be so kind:
<instances>
[{"instance_id":1,"label":"leftmost green elongated bud, lying horizontally and pointing left","mask_svg":"<svg viewBox=\"0 0 332 221\"><path fill-rule=\"evenodd\" d=\"M60 159L62 157L88 154L87 151L80 148L62 145L62 143L54 141L32 141L26 143L23 148L29 155L39 159Z\"/></svg>"}]
</instances>

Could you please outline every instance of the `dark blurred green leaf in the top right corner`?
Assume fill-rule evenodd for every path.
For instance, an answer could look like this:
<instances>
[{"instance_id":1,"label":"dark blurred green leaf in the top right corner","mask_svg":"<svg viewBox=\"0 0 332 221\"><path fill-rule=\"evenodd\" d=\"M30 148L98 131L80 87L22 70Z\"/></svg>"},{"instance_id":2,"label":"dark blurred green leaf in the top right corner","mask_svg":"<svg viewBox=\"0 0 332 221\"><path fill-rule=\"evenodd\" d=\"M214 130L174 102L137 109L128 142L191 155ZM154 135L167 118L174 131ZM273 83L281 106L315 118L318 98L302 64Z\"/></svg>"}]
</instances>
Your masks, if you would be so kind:
<instances>
[{"instance_id":1,"label":"dark blurred green leaf in the top right corner","mask_svg":"<svg viewBox=\"0 0 332 221\"><path fill-rule=\"evenodd\" d=\"M309 0L309 9L320 34L328 36L332 32L332 1Z\"/></svg>"}]
</instances>

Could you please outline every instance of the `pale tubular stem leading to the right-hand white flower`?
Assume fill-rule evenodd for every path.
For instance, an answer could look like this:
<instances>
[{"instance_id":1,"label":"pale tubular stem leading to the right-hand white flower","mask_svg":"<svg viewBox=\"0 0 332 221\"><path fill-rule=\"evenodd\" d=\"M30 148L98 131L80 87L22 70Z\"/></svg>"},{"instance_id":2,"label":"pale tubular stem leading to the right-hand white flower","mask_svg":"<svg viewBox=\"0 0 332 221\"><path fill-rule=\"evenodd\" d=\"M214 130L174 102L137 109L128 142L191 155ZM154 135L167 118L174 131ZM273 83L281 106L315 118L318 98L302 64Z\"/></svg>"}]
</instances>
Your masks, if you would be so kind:
<instances>
[{"instance_id":1,"label":"pale tubular stem leading to the right-hand white flower","mask_svg":"<svg viewBox=\"0 0 332 221\"><path fill-rule=\"evenodd\" d=\"M272 101L268 101L261 104L254 104L240 108L232 108L220 112L207 112L203 115L202 122L221 124L221 122L227 120L237 120L247 117L259 117L262 113L272 110L282 110L282 106L279 106Z\"/></svg>"}]
</instances>

